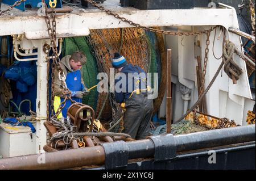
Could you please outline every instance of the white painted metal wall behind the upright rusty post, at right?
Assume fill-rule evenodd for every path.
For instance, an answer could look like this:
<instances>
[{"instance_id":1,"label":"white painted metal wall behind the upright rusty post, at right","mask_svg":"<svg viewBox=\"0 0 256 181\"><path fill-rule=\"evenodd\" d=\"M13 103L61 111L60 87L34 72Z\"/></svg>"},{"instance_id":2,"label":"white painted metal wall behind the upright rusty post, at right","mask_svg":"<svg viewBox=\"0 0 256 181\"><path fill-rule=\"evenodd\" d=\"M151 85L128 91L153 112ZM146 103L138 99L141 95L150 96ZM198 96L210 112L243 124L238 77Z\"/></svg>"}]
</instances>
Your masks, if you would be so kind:
<instances>
[{"instance_id":1,"label":"white painted metal wall behind the upright rusty post, at right","mask_svg":"<svg viewBox=\"0 0 256 181\"><path fill-rule=\"evenodd\" d=\"M181 26L168 27L164 30L168 31L201 31L208 30L210 26L201 26L201 27L191 27L191 26ZM220 38L218 39L218 36ZM214 41L213 49L213 40L214 40L214 31L210 33L210 45L208 53L208 64L207 64L207 73L205 75L205 89L212 80L214 74L216 73L218 67L221 64L222 58L217 60L213 56L214 54L219 58L222 54L222 40L223 33L220 33L219 29L216 31L216 37ZM193 104L198 99L197 93L197 79L196 79L196 66L197 59L196 57L201 56L201 66L204 67L204 57L205 57L205 48L206 48L206 35L199 36L164 36L166 42L166 49L172 49L172 83L175 83L175 89L173 89L172 99L172 117L174 123L183 116L183 105L184 100L181 99L180 84L190 88L191 91L191 101L188 108L191 108ZM235 37L233 37L234 39ZM200 46L197 46L195 42L200 41ZM240 41L240 38L236 36L234 42ZM236 44L239 47L240 44ZM236 85L233 85L232 79L226 75L222 70L216 81L213 83L212 87L206 94L207 100L207 109L209 115L216 117L227 117L229 119L235 120L237 124L245 124L246 113L248 110L253 109L253 103L250 99L250 87L248 85L247 74L245 70L245 65L243 61L234 56L234 60L238 62L238 65L242 67L244 73L241 75L241 80L238 80ZM245 74L246 73L246 74ZM238 90L242 91L238 95ZM230 92L231 91L231 92ZM165 99L165 98L164 98ZM165 116L165 100L163 100L162 105L160 106L159 117Z\"/></svg>"}]
</instances>

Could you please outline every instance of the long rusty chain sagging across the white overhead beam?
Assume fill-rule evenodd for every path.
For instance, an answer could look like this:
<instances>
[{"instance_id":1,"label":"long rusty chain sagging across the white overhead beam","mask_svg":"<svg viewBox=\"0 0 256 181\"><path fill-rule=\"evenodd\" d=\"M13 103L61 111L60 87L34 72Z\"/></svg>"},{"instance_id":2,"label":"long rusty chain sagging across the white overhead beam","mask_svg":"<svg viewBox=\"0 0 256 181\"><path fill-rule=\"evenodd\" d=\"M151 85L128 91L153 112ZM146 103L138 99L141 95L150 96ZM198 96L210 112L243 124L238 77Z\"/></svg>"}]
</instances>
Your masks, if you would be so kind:
<instances>
[{"instance_id":1,"label":"long rusty chain sagging across the white overhead beam","mask_svg":"<svg viewBox=\"0 0 256 181\"><path fill-rule=\"evenodd\" d=\"M94 2L92 0L86 0L86 1L88 3L90 3L92 6L97 7L98 9L100 9L102 11L105 11L107 14L112 15L117 19L120 19L122 22L128 23L131 26L134 26L134 27L137 27L137 28L142 28L143 30L152 31L152 32L155 32L155 33L162 33L162 34L165 34L165 35L178 35L178 36L185 35L185 36L189 36L189 35L201 35L201 34L204 34L204 33L209 33L211 31L213 31L214 28L216 28L216 27L212 27L209 30L197 31L197 32L172 32L172 31L158 30L158 29L155 29L155 28L144 27L144 26L141 26L140 24L134 23L129 19L123 18L122 16L119 16L118 14L116 14L116 13L114 13L114 12L108 10L108 9L105 9L104 7L98 5L96 2Z\"/></svg>"}]
</instances>

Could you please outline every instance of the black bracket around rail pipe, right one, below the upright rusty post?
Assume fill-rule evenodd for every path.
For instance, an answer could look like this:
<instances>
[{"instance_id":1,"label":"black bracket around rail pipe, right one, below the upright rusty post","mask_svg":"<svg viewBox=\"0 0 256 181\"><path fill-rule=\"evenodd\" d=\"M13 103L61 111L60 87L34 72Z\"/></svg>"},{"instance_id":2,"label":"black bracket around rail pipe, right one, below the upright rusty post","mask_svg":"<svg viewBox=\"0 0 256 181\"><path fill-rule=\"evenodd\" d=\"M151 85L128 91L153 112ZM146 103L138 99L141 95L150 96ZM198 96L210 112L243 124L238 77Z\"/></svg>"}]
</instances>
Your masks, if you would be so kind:
<instances>
[{"instance_id":1,"label":"black bracket around rail pipe, right one, below the upright rusty post","mask_svg":"<svg viewBox=\"0 0 256 181\"><path fill-rule=\"evenodd\" d=\"M155 161L164 161L176 157L176 145L172 134L151 136L155 145Z\"/></svg>"}]
</instances>

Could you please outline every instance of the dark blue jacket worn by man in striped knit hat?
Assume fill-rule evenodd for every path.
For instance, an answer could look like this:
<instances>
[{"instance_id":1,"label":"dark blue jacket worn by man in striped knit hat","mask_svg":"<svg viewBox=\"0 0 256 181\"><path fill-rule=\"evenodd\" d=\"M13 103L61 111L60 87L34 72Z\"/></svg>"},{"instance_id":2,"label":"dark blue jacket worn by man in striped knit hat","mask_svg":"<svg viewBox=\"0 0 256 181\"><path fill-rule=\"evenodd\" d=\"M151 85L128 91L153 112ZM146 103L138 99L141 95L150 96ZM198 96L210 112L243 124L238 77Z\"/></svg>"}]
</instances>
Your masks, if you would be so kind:
<instances>
[{"instance_id":1,"label":"dark blue jacket worn by man in striped knit hat","mask_svg":"<svg viewBox=\"0 0 256 181\"><path fill-rule=\"evenodd\" d=\"M117 103L126 102L126 100L129 99L131 93L137 88L146 89L146 81L142 81L142 79L146 79L146 73L139 66L127 64L123 66L121 73L123 73L125 77L119 77L118 74L115 75L115 78L117 78L115 79L115 85L117 85L122 90L121 92L117 92L117 87L115 87L115 100ZM137 78L135 78L135 76L130 76L129 73L137 73L137 75L140 74L142 76L137 76ZM138 84L136 84L137 81ZM126 87L123 85L126 85ZM136 94L136 92L134 94Z\"/></svg>"}]
</instances>

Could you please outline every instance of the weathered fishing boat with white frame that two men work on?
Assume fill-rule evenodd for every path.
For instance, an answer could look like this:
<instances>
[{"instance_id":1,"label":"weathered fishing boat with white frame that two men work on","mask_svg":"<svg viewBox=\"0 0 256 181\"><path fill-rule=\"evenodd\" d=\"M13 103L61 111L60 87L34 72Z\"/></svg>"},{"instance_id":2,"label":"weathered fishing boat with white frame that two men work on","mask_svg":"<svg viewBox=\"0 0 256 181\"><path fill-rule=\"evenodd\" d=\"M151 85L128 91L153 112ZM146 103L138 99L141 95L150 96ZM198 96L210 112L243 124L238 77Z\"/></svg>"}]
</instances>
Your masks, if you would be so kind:
<instances>
[{"instance_id":1,"label":"weathered fishing boat with white frame that two men work on","mask_svg":"<svg viewBox=\"0 0 256 181\"><path fill-rule=\"evenodd\" d=\"M0 169L255 169L254 5L225 2L1 0ZM76 50L92 90L58 119L52 72ZM96 89L114 52L152 75L145 140Z\"/></svg>"}]
</instances>

